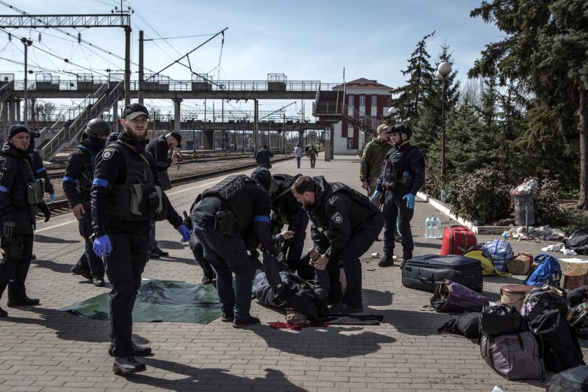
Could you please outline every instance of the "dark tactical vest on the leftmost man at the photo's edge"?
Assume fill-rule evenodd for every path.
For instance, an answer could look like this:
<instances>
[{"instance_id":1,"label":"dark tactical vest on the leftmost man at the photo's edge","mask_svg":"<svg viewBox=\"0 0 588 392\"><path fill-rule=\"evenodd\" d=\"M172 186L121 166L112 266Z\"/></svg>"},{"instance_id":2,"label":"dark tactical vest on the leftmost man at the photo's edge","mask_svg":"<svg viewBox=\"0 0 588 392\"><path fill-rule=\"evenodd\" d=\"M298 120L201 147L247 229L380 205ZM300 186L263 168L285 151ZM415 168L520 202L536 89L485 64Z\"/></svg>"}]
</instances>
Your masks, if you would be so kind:
<instances>
[{"instance_id":1,"label":"dark tactical vest on the leftmost man at the photo's edge","mask_svg":"<svg viewBox=\"0 0 588 392\"><path fill-rule=\"evenodd\" d=\"M27 158L16 158L14 155L8 154L2 155L15 162L15 182L10 188L10 193L8 193L10 206L13 207L13 218L16 223L15 234L29 234L33 232L35 227L36 211L33 206L43 200L43 181L35 179ZM31 197L34 196L29 195L29 193L34 193L38 198L39 190L41 200L31 200Z\"/></svg>"}]
</instances>

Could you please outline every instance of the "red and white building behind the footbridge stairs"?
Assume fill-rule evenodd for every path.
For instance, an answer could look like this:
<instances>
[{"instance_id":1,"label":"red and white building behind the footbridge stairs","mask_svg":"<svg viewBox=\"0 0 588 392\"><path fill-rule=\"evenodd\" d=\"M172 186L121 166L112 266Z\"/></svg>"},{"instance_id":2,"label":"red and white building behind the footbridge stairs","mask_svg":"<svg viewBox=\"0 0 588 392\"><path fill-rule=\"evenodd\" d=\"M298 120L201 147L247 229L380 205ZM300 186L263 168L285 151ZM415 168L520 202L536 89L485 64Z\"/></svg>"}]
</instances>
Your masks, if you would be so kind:
<instances>
[{"instance_id":1,"label":"red and white building behind the footbridge stairs","mask_svg":"<svg viewBox=\"0 0 588 392\"><path fill-rule=\"evenodd\" d=\"M392 87L377 83L377 80L359 78L333 87L333 90L342 91L345 89L345 102L349 106L349 116L358 116L365 113L374 121L374 128L377 127L377 120L382 116L388 116L388 101L391 98ZM359 112L359 113L358 113ZM371 136L365 134L358 127L348 124L346 121L339 121L333 127L333 153L335 155L354 155L365 142L371 140Z\"/></svg>"}]
</instances>

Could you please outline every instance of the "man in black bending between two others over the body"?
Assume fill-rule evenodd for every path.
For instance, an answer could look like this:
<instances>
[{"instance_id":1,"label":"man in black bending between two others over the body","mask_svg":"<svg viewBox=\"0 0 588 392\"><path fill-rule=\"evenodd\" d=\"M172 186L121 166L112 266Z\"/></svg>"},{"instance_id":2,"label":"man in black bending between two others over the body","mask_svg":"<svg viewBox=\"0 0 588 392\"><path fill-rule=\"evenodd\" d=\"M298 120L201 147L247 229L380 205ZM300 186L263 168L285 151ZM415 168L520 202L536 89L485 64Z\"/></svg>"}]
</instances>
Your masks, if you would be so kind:
<instances>
[{"instance_id":1,"label":"man in black bending between two others over the body","mask_svg":"<svg viewBox=\"0 0 588 392\"><path fill-rule=\"evenodd\" d=\"M252 175L253 176L253 175ZM276 181L276 195L272 197L272 232L281 232L284 225L295 233L294 237L284 242L282 252L285 255L286 264L292 271L297 272L303 279L314 278L314 268L308 262L301 262L300 257L304 250L304 239L308 226L308 215L296 200L292 193L292 184L298 177L289 174L274 174Z\"/></svg>"}]
</instances>

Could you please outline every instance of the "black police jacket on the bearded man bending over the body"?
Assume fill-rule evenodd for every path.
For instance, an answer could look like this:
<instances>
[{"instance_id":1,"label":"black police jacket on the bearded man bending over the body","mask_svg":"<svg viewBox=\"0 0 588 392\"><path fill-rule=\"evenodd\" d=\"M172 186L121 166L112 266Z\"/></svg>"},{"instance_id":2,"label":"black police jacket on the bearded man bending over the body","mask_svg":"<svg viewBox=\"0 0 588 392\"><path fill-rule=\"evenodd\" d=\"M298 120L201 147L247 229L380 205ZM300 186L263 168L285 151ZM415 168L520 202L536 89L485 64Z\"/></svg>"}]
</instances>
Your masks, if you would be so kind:
<instances>
[{"instance_id":1,"label":"black police jacket on the bearded man bending over the body","mask_svg":"<svg viewBox=\"0 0 588 392\"><path fill-rule=\"evenodd\" d=\"M332 189L323 176L314 177L316 188L314 205L305 207L312 222L311 237L317 251L328 258L336 258L354 232L375 228L374 216L381 214L365 197L358 202L351 192L355 190L339 184Z\"/></svg>"}]
</instances>

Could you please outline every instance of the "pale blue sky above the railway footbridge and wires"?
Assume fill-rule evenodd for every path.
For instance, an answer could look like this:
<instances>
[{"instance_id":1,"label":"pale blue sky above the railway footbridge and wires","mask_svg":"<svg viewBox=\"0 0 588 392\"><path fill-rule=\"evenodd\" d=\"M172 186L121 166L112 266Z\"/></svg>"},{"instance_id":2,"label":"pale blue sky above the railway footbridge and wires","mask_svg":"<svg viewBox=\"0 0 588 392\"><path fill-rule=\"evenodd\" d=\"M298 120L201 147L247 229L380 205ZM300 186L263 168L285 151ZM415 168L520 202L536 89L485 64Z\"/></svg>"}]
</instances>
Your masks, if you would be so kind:
<instances>
[{"instance_id":1,"label":"pale blue sky above the railway footbridge and wires","mask_svg":"<svg viewBox=\"0 0 588 392\"><path fill-rule=\"evenodd\" d=\"M7 3L30 14L110 13L120 0L7 0ZM159 71L175 59L193 50L225 27L214 38L190 55L190 64L197 72L209 73L221 80L265 80L268 73L285 73L288 80L321 80L342 83L343 69L347 81L364 77L398 87L404 83L401 69L416 43L435 31L428 40L433 62L440 45L447 42L454 57L454 71L465 80L466 73L479 57L484 45L497 41L500 31L479 18L470 18L470 11L480 0L362 0L362 1L201 1L201 0L125 0L123 8L131 7L132 61L138 61L138 31L146 38L195 36L145 42L145 66ZM14 10L0 6L0 14ZM124 32L120 28L68 29L81 33L85 41L124 56ZM91 50L75 39L52 29L12 29L15 37L26 36L33 41L29 64L59 71L62 80L74 78L67 72L88 73L80 66L97 73L106 69L124 69L121 59ZM38 34L41 33L41 43ZM74 42L72 42L74 41ZM52 57L38 49L48 50ZM221 57L222 48L222 57ZM93 51L93 52L92 52ZM15 73L22 79L22 43L0 31L0 72ZM78 64L67 64L63 58ZM8 60L7 60L8 59ZM218 66L220 60L220 67ZM132 66L137 76L137 66ZM149 71L146 70L148 73ZM165 75L176 80L190 80L188 69L174 65ZM290 102L263 101L260 110L279 109ZM65 102L65 104L68 104ZM155 102L163 111L171 102ZM247 104L232 106L249 109ZM249 104L250 105L250 104ZM210 102L207 102L210 106ZM288 113L300 111L297 103ZM183 102L183 109L202 108L201 101ZM307 113L310 111L306 105Z\"/></svg>"}]
</instances>

